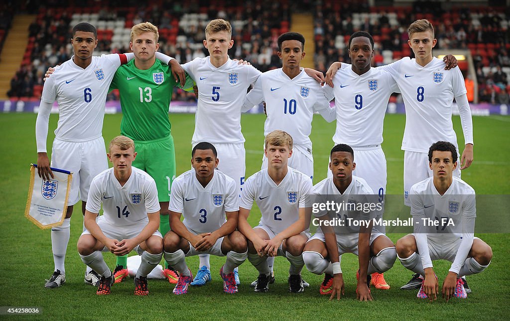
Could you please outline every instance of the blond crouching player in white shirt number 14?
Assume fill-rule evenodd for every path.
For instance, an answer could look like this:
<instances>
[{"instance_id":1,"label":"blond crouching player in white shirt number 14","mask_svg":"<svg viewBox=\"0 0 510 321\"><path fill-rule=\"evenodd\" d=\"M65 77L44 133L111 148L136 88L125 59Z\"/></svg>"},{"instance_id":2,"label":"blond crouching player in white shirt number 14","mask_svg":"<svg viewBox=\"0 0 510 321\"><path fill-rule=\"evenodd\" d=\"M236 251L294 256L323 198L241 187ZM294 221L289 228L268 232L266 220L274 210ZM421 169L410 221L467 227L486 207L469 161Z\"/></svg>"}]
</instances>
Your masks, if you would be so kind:
<instances>
[{"instance_id":1,"label":"blond crouching player in white shirt number 14","mask_svg":"<svg viewBox=\"0 0 510 321\"><path fill-rule=\"evenodd\" d=\"M158 231L158 190L154 179L131 165L136 158L131 138L112 139L107 155L113 168L92 180L85 208L86 230L78 240L78 252L83 263L100 276L96 293L104 295L110 294L113 274L101 251L122 256L135 250L142 256L135 278L135 295L147 295L147 275L163 256L163 240ZM104 215L96 222L101 204Z\"/></svg>"}]
</instances>

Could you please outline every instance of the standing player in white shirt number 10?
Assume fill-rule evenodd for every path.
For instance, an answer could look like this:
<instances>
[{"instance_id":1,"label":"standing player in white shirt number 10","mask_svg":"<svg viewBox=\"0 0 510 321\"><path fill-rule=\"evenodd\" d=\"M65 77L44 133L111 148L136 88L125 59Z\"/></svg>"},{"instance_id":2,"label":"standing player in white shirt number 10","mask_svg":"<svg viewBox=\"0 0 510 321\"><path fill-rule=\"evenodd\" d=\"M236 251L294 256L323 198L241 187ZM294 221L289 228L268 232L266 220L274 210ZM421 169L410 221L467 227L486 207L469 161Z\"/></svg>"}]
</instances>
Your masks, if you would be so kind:
<instances>
[{"instance_id":1,"label":"standing player in white shirt number 10","mask_svg":"<svg viewBox=\"0 0 510 321\"><path fill-rule=\"evenodd\" d=\"M266 103L267 119L264 135L274 130L288 132L294 139L293 157L289 166L303 172L309 178L314 175L312 156L312 118L319 112L328 122L335 120L335 109L329 107L321 86L300 67L304 58L304 37L287 32L278 37L278 57L282 68L264 72L246 95L243 112L253 105ZM262 168L268 167L264 156Z\"/></svg>"}]
</instances>

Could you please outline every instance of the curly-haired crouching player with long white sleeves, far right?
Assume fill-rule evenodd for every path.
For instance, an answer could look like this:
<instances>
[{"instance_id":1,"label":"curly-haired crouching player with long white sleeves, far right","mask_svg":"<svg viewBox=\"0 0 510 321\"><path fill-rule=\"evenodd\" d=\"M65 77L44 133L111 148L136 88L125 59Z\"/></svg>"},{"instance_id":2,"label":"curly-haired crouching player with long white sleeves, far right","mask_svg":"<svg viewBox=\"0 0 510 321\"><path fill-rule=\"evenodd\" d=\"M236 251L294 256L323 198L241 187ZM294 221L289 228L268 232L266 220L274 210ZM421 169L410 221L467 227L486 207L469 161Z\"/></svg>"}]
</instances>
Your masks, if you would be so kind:
<instances>
[{"instance_id":1,"label":"curly-haired crouching player with long white sleeves, far right","mask_svg":"<svg viewBox=\"0 0 510 321\"><path fill-rule=\"evenodd\" d=\"M439 283L433 260L453 262L443 282L443 298L465 299L463 276L480 273L492 259L491 247L474 237L475 191L454 177L457 150L450 142L438 141L428 150L432 177L412 186L411 215L414 233L397 241L402 265L425 276L418 298L436 300Z\"/></svg>"}]
</instances>

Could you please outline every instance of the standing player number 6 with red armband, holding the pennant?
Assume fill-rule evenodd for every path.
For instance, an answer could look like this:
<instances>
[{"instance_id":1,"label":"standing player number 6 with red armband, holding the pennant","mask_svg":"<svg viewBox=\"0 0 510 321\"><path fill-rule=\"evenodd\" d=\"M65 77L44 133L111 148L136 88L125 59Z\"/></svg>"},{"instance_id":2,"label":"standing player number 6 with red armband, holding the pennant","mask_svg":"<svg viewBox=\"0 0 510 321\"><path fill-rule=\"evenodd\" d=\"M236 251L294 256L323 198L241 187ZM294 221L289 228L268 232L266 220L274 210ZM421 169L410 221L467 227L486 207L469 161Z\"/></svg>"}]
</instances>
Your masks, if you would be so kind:
<instances>
[{"instance_id":1,"label":"standing player number 6 with red armband, holding the pennant","mask_svg":"<svg viewBox=\"0 0 510 321\"><path fill-rule=\"evenodd\" d=\"M52 252L55 271L44 285L55 288L65 282L65 254L73 205L82 200L85 213L90 182L108 168L105 141L101 136L108 86L121 64L133 54L93 57L97 31L82 22L72 30L74 55L48 78L42 91L36 120L37 170L43 179L53 178L46 152L49 113L55 101L59 104L59 121L52 147L52 166L74 172L64 223L52 228ZM87 279L89 277L89 279ZM86 281L92 280L87 275ZM94 281L90 281L94 282ZM95 283L95 282L94 282Z\"/></svg>"}]
</instances>

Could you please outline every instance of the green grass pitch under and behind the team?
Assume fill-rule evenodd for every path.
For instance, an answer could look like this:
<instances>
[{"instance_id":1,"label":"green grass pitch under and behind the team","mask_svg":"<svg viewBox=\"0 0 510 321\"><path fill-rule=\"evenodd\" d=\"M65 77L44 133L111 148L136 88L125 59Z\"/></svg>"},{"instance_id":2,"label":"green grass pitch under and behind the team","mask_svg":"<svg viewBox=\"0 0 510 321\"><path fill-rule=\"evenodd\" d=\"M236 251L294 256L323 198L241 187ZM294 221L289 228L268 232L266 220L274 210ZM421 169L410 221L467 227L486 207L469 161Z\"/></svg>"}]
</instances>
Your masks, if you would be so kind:
<instances>
[{"instance_id":1,"label":"green grass pitch under and behind the team","mask_svg":"<svg viewBox=\"0 0 510 321\"><path fill-rule=\"evenodd\" d=\"M494 259L484 273L468 277L473 293L467 300L438 299L432 304L418 300L416 291L402 291L399 287L411 277L397 260L386 274L391 285L388 291L372 288L374 302L355 300L355 271L357 258L344 255L342 269L346 283L345 297L329 302L319 295L322 276L303 269L303 277L310 283L304 293L288 293L288 261L277 258L276 283L266 294L254 293L249 283L256 278L256 269L246 261L240 266L241 285L236 295L222 292L218 270L224 258L211 257L213 281L200 288L190 288L187 295L177 297L171 293L173 285L164 280L149 280L150 294L145 298L133 295L132 279L112 287L107 297L95 295L95 289L83 283L85 265L78 256L76 246L82 229L80 207L71 220L71 239L66 256L66 283L57 289L45 289L44 279L53 272L50 252L50 233L42 231L23 217L29 183L29 165L37 161L35 145L35 114L11 113L0 116L2 155L0 162L0 307L40 307L41 315L30 318L48 319L508 319L509 282L507 270L509 234L478 235L493 249ZM121 115L106 115L103 134L105 141L118 135ZM190 168L191 137L194 115L171 114L172 134L175 140L177 174ZM260 169L263 146L264 115L243 115L242 129L246 138L246 177ZM388 160L388 194L402 191L403 152L400 151L404 115L387 115L383 149ZM464 141L458 116L453 118ZM473 117L475 161L463 172L463 179L474 187L477 194L510 194L510 117ZM57 116L50 117L48 142L53 140ZM315 178L319 182L326 175L331 137L335 125L327 124L320 116L314 117L312 141L314 144ZM221 160L220 160L221 161ZM508 215L508 212L501 213ZM260 212L254 210L250 224L256 225ZM478 212L481 220L484 213ZM396 241L402 234L389 234ZM114 267L115 258L106 253L107 263ZM198 258L188 258L196 271ZM440 280L447 273L449 263L436 263ZM442 285L442 282L440 282ZM4 318L4 316L2 316ZM25 316L24 318L28 318Z\"/></svg>"}]
</instances>

